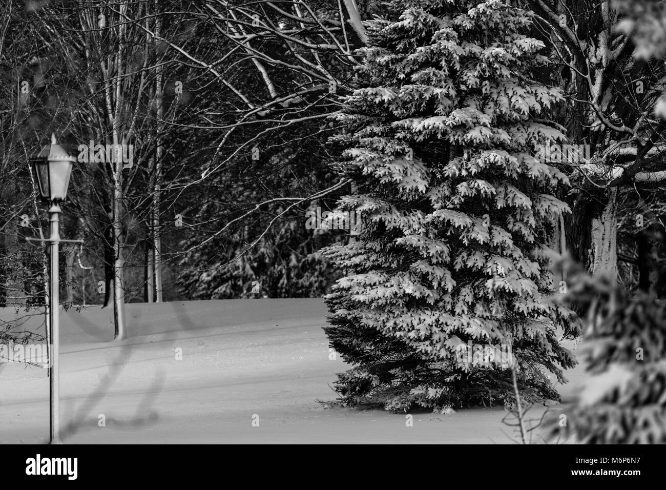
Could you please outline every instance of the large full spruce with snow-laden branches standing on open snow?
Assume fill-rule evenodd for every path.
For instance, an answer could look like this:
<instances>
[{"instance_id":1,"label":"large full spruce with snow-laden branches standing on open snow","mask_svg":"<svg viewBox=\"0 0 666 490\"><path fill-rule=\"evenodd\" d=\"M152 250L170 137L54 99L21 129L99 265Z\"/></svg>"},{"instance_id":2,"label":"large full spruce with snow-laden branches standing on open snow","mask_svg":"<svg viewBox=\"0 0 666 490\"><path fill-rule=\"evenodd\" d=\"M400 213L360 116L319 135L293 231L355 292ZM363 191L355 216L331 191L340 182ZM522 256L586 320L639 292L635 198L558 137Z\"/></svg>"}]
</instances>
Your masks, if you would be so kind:
<instances>
[{"instance_id":1,"label":"large full spruce with snow-laden branches standing on open snow","mask_svg":"<svg viewBox=\"0 0 666 490\"><path fill-rule=\"evenodd\" d=\"M346 271L326 297L330 345L352 369L344 403L391 411L511 403L511 369L460 346L509 345L525 401L557 399L573 355L557 341L545 244L567 206L563 173L535 159L564 136L559 92L535 81L530 13L500 1L393 0L368 23L362 87L334 117L340 201L362 232L326 254ZM557 287L557 285L555 285ZM561 334L561 331L559 332ZM504 365L505 366L505 365Z\"/></svg>"}]
</instances>

